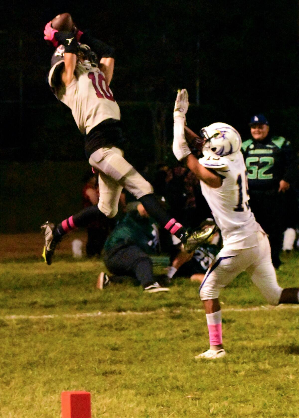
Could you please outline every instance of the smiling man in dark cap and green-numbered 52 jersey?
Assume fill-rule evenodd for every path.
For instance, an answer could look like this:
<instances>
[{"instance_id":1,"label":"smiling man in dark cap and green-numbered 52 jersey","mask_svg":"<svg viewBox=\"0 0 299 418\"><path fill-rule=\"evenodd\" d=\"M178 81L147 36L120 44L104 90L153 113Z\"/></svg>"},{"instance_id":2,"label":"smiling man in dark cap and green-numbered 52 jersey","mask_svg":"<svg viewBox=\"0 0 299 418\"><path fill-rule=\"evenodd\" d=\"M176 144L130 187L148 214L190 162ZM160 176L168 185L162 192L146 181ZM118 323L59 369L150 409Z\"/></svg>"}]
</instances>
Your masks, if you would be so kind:
<instances>
[{"instance_id":1,"label":"smiling man in dark cap and green-numbered 52 jersey","mask_svg":"<svg viewBox=\"0 0 299 418\"><path fill-rule=\"evenodd\" d=\"M288 140L269 135L264 115L249 123L251 139L242 144L248 171L249 205L256 221L269 234L272 263L279 268L285 226L285 193L297 176L296 158Z\"/></svg>"}]
</instances>

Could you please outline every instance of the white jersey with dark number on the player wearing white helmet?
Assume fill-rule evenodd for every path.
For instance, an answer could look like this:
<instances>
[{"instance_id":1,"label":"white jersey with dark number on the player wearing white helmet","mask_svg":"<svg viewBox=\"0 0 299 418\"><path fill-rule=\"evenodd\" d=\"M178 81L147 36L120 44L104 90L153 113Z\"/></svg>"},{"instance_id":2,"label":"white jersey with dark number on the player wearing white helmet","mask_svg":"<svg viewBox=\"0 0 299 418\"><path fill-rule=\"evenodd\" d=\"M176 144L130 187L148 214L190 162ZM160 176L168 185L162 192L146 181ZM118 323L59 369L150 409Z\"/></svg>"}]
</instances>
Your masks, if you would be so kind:
<instances>
[{"instance_id":1,"label":"white jersey with dark number on the player wearing white helmet","mask_svg":"<svg viewBox=\"0 0 299 418\"><path fill-rule=\"evenodd\" d=\"M226 157L203 157L199 163L212 168L223 178L222 186L217 189L200 181L205 197L216 224L221 230L223 245L238 250L256 245L255 237L250 237L257 231L263 231L251 212L248 204L247 173L241 152L232 161Z\"/></svg>"}]
</instances>

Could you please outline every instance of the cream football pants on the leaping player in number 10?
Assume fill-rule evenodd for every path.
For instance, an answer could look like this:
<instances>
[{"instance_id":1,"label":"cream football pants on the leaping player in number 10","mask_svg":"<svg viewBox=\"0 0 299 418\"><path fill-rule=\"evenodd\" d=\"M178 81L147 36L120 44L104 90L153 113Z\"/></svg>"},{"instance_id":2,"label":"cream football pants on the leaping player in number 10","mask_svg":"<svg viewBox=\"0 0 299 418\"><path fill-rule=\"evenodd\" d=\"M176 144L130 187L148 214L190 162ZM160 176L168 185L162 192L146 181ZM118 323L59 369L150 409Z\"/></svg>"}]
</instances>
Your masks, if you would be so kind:
<instances>
[{"instance_id":1,"label":"cream football pants on the leaping player in number 10","mask_svg":"<svg viewBox=\"0 0 299 418\"><path fill-rule=\"evenodd\" d=\"M108 218L117 214L123 188L136 199L153 193L151 184L124 159L123 155L123 151L117 147L105 147L96 150L89 158L89 164L99 171L98 207Z\"/></svg>"}]
</instances>

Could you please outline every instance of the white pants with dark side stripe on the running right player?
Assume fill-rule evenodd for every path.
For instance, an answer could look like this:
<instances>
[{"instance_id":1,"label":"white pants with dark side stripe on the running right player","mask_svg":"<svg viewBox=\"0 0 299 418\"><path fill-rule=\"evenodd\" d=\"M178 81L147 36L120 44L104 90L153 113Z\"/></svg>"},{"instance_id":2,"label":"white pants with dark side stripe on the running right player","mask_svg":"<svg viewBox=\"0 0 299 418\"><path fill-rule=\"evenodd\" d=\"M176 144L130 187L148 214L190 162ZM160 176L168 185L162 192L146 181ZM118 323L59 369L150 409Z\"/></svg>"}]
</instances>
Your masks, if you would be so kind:
<instances>
[{"instance_id":1,"label":"white pants with dark side stripe on the running right player","mask_svg":"<svg viewBox=\"0 0 299 418\"><path fill-rule=\"evenodd\" d=\"M246 271L266 300L271 305L278 305L283 289L277 283L269 240L267 235L260 231L256 234L256 247L242 250L223 247L220 250L200 285L199 294L202 301L218 298L221 289L231 283L238 274Z\"/></svg>"}]
</instances>

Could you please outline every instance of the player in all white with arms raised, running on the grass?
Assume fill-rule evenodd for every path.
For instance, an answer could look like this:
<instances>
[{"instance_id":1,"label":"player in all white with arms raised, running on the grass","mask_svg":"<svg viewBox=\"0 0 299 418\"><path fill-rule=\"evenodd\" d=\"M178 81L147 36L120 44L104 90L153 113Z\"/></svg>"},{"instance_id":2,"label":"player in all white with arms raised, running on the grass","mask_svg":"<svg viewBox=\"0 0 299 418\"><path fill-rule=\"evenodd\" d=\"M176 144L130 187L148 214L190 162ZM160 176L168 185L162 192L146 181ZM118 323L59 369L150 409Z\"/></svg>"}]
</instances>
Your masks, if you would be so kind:
<instances>
[{"instance_id":1,"label":"player in all white with arms raised, running on the grass","mask_svg":"<svg viewBox=\"0 0 299 418\"><path fill-rule=\"evenodd\" d=\"M174 109L172 149L176 158L185 160L188 168L200 179L207 200L223 238L223 248L210 266L200 285L210 348L196 359L216 359L226 352L222 345L220 290L246 271L253 283L271 305L299 303L299 288L281 288L271 262L269 240L256 222L248 205L246 166L239 133L226 123L213 123L201 132L203 157L193 155L185 140L185 115L188 92L179 91Z\"/></svg>"}]
</instances>

